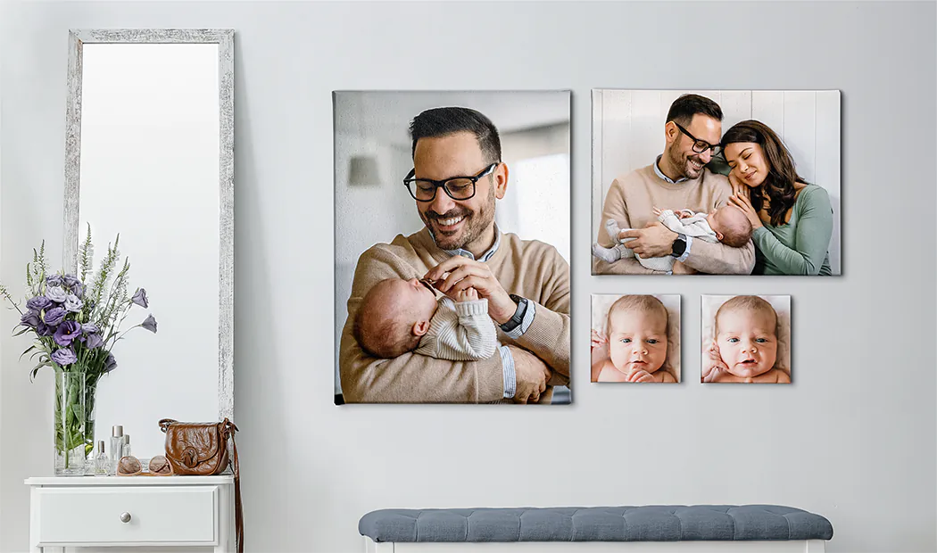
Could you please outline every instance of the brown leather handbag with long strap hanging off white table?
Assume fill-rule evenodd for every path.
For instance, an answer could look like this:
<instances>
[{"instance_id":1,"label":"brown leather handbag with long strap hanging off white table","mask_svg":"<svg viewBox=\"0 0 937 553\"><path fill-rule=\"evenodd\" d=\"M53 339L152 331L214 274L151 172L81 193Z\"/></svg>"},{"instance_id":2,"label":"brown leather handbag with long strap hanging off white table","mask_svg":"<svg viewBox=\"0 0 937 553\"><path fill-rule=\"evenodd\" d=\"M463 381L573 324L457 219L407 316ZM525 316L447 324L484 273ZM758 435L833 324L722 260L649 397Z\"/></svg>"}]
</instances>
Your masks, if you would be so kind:
<instances>
[{"instance_id":1,"label":"brown leather handbag with long strap hanging off white table","mask_svg":"<svg viewBox=\"0 0 937 553\"><path fill-rule=\"evenodd\" d=\"M228 439L234 469L234 524L237 531L237 550L244 553L244 512L241 508L241 474L238 471L237 444L234 426L227 418L220 423L180 423L172 419L159 421L159 429L166 433L166 458L175 474L210 476L228 468Z\"/></svg>"}]
</instances>

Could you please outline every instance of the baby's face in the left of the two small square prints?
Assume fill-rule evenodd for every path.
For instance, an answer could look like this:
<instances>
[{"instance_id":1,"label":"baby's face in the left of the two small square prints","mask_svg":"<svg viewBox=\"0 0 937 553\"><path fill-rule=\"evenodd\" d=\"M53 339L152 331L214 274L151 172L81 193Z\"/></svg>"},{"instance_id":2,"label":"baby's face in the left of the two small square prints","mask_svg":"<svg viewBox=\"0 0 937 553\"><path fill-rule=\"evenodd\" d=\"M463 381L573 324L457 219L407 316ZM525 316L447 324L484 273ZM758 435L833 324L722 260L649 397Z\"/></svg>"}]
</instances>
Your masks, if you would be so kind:
<instances>
[{"instance_id":1,"label":"baby's face in the left of the two small square prints","mask_svg":"<svg viewBox=\"0 0 937 553\"><path fill-rule=\"evenodd\" d=\"M660 312L619 311L609 321L608 343L615 368L625 374L653 373L667 359L667 320Z\"/></svg>"}]
</instances>

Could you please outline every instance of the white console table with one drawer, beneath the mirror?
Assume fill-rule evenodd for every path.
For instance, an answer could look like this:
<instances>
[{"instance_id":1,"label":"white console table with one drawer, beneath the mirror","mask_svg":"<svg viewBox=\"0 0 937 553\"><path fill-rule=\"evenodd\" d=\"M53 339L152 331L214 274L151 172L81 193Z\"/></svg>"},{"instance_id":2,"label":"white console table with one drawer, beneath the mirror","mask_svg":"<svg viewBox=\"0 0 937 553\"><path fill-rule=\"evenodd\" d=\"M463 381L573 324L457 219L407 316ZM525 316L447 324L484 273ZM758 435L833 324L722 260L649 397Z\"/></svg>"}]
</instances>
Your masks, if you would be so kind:
<instances>
[{"instance_id":1,"label":"white console table with one drawer, beneath the mirror","mask_svg":"<svg viewBox=\"0 0 937 553\"><path fill-rule=\"evenodd\" d=\"M231 475L52 476L25 483L32 553L112 546L237 550Z\"/></svg>"}]
</instances>

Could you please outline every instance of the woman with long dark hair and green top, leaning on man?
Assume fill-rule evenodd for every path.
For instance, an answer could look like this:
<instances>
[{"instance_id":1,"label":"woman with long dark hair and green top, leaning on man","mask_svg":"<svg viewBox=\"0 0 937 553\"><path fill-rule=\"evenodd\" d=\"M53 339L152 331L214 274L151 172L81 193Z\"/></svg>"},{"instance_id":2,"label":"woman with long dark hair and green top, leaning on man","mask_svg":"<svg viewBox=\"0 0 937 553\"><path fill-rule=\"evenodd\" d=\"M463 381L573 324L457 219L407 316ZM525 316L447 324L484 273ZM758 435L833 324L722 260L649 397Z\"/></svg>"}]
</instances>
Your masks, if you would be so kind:
<instances>
[{"instance_id":1,"label":"woman with long dark hair and green top, leaning on man","mask_svg":"<svg viewBox=\"0 0 937 553\"><path fill-rule=\"evenodd\" d=\"M797 174L777 134L758 121L725 132L722 151L732 170L729 198L751 221L758 275L830 275L833 208L825 188Z\"/></svg>"}]
</instances>

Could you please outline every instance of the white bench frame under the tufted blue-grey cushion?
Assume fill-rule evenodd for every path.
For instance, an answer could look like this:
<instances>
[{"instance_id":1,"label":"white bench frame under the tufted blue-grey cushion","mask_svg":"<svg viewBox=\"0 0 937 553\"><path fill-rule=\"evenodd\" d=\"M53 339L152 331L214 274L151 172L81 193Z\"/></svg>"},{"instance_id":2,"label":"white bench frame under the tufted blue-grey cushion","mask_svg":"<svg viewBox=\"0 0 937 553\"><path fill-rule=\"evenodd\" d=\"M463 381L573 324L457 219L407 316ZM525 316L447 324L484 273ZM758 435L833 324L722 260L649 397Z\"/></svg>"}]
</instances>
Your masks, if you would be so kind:
<instances>
[{"instance_id":1,"label":"white bench frame under the tufted blue-grey cushion","mask_svg":"<svg viewBox=\"0 0 937 553\"><path fill-rule=\"evenodd\" d=\"M784 542L374 542L365 553L824 553L825 540Z\"/></svg>"}]
</instances>

